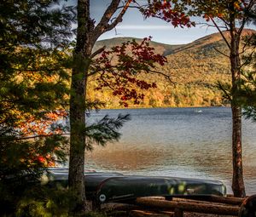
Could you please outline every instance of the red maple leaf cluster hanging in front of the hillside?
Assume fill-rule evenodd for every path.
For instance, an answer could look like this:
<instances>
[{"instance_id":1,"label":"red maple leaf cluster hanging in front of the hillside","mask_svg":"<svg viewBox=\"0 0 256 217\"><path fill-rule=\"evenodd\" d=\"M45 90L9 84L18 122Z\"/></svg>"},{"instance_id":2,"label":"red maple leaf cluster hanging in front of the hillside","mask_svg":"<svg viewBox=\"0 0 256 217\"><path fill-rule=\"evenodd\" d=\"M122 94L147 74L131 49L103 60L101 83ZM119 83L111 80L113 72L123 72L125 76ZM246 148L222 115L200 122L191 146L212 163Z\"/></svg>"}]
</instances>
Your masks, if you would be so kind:
<instances>
[{"instance_id":1,"label":"red maple leaf cluster hanging in front of the hillside","mask_svg":"<svg viewBox=\"0 0 256 217\"><path fill-rule=\"evenodd\" d=\"M142 72L154 72L156 65L163 66L166 57L154 54L154 48L149 46L151 37L143 38L141 43L135 40L122 43L110 50L103 50L95 62L100 71L96 77L96 90L108 87L113 95L119 96L120 105L127 107L127 100L139 104L144 94L137 93L136 88L147 90L156 88L155 83L148 83L138 77Z\"/></svg>"}]
</instances>

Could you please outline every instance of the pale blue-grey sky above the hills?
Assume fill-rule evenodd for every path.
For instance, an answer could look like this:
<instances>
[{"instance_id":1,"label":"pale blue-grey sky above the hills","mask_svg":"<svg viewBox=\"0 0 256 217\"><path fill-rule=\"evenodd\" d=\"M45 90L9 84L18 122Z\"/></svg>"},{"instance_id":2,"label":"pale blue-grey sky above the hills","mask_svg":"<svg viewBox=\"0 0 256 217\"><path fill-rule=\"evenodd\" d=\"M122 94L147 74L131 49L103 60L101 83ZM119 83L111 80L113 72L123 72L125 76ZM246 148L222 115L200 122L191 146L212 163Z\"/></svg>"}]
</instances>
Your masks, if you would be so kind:
<instances>
[{"instance_id":1,"label":"pale blue-grey sky above the hills","mask_svg":"<svg viewBox=\"0 0 256 217\"><path fill-rule=\"evenodd\" d=\"M143 0L139 0L143 1ZM69 3L76 4L76 1L70 0ZM96 23L102 17L104 10L107 9L110 0L91 0L90 16L96 20ZM201 20L196 19L196 22ZM191 28L174 28L170 23L156 18L143 19L143 15L137 9L128 9L123 21L112 31L104 33L98 40L113 37L153 37L152 40L167 44L191 43L198 38L210 35L217 30L214 27L206 25L195 26Z\"/></svg>"}]
</instances>

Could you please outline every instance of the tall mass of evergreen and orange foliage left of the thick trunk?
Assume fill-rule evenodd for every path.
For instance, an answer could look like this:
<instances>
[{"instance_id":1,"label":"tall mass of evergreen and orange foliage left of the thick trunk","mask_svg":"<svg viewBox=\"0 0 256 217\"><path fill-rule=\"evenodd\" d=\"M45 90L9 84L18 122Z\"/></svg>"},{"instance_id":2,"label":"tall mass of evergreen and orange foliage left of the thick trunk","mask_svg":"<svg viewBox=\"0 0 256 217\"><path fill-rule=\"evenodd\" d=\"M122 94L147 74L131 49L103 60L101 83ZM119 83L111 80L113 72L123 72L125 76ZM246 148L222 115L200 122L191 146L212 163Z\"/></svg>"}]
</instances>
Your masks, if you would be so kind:
<instances>
[{"instance_id":1,"label":"tall mass of evergreen and orange foliage left of the thick trunk","mask_svg":"<svg viewBox=\"0 0 256 217\"><path fill-rule=\"evenodd\" d=\"M57 3L0 3L1 214L15 212L54 159L66 159L67 138L49 136L61 125L51 126L47 117L65 109L68 94L67 48L74 14L72 8ZM24 131L28 123L32 129Z\"/></svg>"}]
</instances>

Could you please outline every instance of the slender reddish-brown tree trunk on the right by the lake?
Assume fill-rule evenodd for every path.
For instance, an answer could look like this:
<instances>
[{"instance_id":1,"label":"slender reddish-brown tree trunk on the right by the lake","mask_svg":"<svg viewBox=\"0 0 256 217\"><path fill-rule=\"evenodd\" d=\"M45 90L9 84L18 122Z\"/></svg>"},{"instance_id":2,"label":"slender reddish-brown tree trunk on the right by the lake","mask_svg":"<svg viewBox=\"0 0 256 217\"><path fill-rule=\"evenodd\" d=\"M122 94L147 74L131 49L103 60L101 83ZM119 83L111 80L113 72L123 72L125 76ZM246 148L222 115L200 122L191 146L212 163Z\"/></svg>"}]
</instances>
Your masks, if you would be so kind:
<instances>
[{"instance_id":1,"label":"slender reddish-brown tree trunk on the right by the lake","mask_svg":"<svg viewBox=\"0 0 256 217\"><path fill-rule=\"evenodd\" d=\"M234 30L234 31L233 31ZM230 65L232 73L232 157L233 157L233 180L232 190L235 197L245 197L245 187L243 182L242 159L241 159L241 106L237 104L236 93L239 90L240 73L240 54L239 43L240 35L236 34L235 28L231 29L230 38Z\"/></svg>"}]
</instances>

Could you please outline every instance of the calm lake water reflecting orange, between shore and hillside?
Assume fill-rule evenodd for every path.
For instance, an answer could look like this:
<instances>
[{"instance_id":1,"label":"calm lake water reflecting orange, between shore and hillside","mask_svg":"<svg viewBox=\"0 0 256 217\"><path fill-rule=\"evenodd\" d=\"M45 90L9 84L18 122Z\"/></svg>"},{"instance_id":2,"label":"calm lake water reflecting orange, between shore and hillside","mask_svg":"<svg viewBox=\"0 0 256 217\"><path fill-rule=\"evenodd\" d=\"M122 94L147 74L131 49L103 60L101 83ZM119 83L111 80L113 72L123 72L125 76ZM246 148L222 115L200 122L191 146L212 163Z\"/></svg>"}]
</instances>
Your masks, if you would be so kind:
<instances>
[{"instance_id":1,"label":"calm lake water reflecting orange, between shore and hillside","mask_svg":"<svg viewBox=\"0 0 256 217\"><path fill-rule=\"evenodd\" d=\"M102 110L131 114L118 142L86 154L86 168L123 174L165 175L222 180L231 192L231 110L157 108ZM243 120L242 146L247 194L256 194L256 123Z\"/></svg>"}]
</instances>

